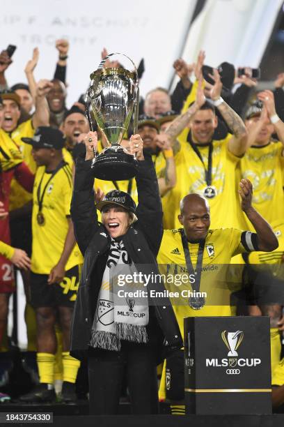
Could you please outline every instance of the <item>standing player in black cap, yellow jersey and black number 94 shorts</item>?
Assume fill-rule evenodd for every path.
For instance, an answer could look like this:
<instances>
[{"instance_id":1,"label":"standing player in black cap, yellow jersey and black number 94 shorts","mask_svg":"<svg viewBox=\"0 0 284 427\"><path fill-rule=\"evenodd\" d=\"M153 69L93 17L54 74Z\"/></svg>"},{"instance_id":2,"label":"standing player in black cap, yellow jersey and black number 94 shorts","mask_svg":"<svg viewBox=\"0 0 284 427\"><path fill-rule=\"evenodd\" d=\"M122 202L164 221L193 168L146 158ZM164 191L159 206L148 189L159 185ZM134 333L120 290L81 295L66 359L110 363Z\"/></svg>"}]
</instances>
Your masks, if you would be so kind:
<instances>
[{"instance_id":1,"label":"standing player in black cap, yellow jersey and black number 94 shorts","mask_svg":"<svg viewBox=\"0 0 284 427\"><path fill-rule=\"evenodd\" d=\"M79 362L70 357L70 322L79 285L82 256L75 245L70 200L72 172L63 160L60 130L41 126L24 142L32 145L38 165L33 188L33 245L31 305L36 309L40 384L22 401L50 401L54 393L56 313L63 333L63 390L65 401L76 398L74 382Z\"/></svg>"}]
</instances>

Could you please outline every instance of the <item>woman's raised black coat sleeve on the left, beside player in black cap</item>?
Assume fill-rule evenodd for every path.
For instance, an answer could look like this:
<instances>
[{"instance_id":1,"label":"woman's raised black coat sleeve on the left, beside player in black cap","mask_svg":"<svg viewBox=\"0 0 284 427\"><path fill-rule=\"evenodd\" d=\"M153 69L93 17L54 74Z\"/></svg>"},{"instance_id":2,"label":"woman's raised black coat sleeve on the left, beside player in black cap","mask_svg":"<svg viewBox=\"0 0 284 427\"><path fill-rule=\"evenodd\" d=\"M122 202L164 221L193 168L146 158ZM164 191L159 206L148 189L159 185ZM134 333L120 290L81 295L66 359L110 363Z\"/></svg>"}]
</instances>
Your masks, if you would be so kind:
<instances>
[{"instance_id":1,"label":"woman's raised black coat sleeve on the left, beside player in black cap","mask_svg":"<svg viewBox=\"0 0 284 427\"><path fill-rule=\"evenodd\" d=\"M95 209L94 177L93 170L90 167L91 163L91 160L77 158L70 209L74 224L74 234L83 255L93 234L99 227L97 209Z\"/></svg>"}]
</instances>

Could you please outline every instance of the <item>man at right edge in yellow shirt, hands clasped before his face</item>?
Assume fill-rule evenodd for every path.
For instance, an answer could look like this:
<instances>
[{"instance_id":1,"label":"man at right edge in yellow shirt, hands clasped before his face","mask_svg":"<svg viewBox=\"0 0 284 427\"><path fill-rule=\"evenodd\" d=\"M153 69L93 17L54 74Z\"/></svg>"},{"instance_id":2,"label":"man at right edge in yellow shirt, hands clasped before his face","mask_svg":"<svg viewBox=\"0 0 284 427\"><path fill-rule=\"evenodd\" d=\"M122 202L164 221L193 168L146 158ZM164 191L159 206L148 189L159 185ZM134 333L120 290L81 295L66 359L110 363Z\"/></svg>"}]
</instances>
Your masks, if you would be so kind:
<instances>
[{"instance_id":1,"label":"man at right edge in yellow shirt, hands clasped before his face","mask_svg":"<svg viewBox=\"0 0 284 427\"><path fill-rule=\"evenodd\" d=\"M267 254L252 253L246 257L248 272L253 276L253 299L249 313L269 315L271 324L271 368L272 374L280 361L281 336L278 323L281 322L283 297L283 274L280 265L284 254L284 193L283 193L283 143L284 123L276 114L274 95L271 91L258 93L257 101L246 113L248 149L240 163L242 177L253 183L253 207L269 221L278 236L279 247ZM276 132L279 140L272 140ZM253 226L248 224L249 230ZM258 267L256 264L262 264ZM267 267L265 267L267 264ZM260 270L261 269L261 270ZM255 274L255 271L258 273ZM278 304L276 304L278 302Z\"/></svg>"}]
</instances>

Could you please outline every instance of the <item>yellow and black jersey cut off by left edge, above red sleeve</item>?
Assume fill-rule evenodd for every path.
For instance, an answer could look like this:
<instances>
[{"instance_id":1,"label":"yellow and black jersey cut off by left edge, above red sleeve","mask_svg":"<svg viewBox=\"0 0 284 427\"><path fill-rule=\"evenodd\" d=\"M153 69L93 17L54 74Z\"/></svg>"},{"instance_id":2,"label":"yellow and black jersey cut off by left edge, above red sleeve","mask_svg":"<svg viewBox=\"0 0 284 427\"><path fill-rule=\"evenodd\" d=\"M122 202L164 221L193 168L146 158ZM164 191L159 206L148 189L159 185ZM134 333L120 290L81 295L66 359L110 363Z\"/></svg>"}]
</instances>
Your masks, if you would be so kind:
<instances>
[{"instance_id":1,"label":"yellow and black jersey cut off by left edge, above red sleeve","mask_svg":"<svg viewBox=\"0 0 284 427\"><path fill-rule=\"evenodd\" d=\"M19 147L9 135L0 129L0 165L3 172L13 169L13 167L22 163L22 154Z\"/></svg>"}]
</instances>

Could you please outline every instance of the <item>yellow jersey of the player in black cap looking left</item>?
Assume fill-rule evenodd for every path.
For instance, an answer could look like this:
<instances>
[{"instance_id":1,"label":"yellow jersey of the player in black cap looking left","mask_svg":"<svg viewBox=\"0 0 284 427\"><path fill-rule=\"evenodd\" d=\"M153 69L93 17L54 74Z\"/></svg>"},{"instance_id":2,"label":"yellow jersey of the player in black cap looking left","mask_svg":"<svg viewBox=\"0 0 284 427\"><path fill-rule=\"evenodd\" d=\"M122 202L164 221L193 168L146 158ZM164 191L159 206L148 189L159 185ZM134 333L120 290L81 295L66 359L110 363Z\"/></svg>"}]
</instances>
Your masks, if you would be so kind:
<instances>
[{"instance_id":1,"label":"yellow jersey of the player in black cap looking left","mask_svg":"<svg viewBox=\"0 0 284 427\"><path fill-rule=\"evenodd\" d=\"M58 263L68 232L73 187L72 170L63 162L62 167L52 179L51 177L52 174L46 172L45 167L39 167L33 187L31 271L38 274L49 274ZM38 223L40 200L43 224ZM65 269L69 270L82 262L83 257L76 245Z\"/></svg>"}]
</instances>

